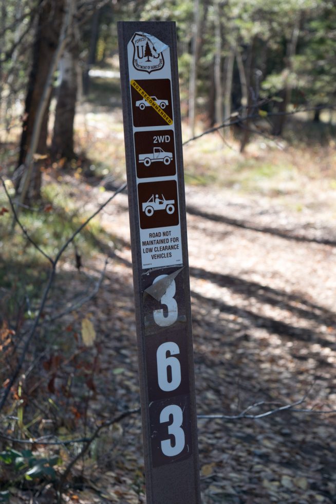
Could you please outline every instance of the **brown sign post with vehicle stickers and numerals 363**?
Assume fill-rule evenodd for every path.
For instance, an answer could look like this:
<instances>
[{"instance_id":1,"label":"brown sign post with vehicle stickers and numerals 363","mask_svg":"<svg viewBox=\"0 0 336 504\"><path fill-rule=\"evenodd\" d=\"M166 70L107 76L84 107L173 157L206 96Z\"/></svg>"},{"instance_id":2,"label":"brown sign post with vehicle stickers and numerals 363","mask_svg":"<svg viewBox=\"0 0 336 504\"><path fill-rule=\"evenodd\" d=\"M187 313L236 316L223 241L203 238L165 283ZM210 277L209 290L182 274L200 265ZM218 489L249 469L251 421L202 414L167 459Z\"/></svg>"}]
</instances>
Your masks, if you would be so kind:
<instances>
[{"instance_id":1,"label":"brown sign post with vehicle stickers and numerals 363","mask_svg":"<svg viewBox=\"0 0 336 504\"><path fill-rule=\"evenodd\" d=\"M200 503L176 31L118 23L147 502Z\"/></svg>"}]
</instances>

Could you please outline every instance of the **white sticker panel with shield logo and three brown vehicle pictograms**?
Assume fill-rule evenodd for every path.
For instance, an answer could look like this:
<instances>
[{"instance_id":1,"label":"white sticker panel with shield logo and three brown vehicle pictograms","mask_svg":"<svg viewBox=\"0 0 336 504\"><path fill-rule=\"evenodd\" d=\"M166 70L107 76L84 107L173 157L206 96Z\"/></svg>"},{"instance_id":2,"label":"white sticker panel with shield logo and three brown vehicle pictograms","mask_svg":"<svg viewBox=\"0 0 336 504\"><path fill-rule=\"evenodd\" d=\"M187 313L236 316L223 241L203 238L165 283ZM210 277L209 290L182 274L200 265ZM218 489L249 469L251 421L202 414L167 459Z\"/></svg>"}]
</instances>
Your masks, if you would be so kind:
<instances>
[{"instance_id":1,"label":"white sticker panel with shield logo and three brown vehicle pictograms","mask_svg":"<svg viewBox=\"0 0 336 504\"><path fill-rule=\"evenodd\" d=\"M142 268L182 264L170 48L148 33L127 45Z\"/></svg>"}]
</instances>

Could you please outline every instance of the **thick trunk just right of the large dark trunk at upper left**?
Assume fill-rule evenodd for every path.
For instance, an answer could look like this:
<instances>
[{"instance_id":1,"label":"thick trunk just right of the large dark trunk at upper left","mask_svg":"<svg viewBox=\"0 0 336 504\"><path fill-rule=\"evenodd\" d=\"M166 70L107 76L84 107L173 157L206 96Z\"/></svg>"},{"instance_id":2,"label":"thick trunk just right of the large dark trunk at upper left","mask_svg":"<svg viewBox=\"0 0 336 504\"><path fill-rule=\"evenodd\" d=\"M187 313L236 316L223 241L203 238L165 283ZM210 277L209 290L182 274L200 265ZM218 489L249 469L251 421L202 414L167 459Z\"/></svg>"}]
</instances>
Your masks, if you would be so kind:
<instances>
[{"instance_id":1,"label":"thick trunk just right of the large dark trunk at upper left","mask_svg":"<svg viewBox=\"0 0 336 504\"><path fill-rule=\"evenodd\" d=\"M57 90L57 105L51 145L51 155L55 158L72 159L73 122L78 91L79 32L74 27L71 42L60 60L60 85Z\"/></svg>"}]
</instances>

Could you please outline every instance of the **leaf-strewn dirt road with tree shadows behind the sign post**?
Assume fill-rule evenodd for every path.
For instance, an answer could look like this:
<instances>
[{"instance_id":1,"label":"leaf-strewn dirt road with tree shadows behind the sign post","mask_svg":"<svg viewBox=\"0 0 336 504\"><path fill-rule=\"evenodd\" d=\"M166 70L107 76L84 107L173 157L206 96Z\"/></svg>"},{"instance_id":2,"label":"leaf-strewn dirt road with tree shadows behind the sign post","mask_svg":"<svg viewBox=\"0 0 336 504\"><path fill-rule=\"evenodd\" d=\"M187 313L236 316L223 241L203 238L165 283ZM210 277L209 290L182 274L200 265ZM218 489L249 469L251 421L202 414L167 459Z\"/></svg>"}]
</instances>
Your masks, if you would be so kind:
<instances>
[{"instance_id":1,"label":"leaf-strewn dirt road with tree shadows behind the sign post","mask_svg":"<svg viewBox=\"0 0 336 504\"><path fill-rule=\"evenodd\" d=\"M250 410L258 414L300 400L296 409L336 409L335 229L315 211L298 214L234 191L189 187L186 203L198 412L237 415L262 402ZM110 393L116 403L133 405L126 195L101 218L120 240L95 301L108 352L123 370ZM139 421L131 424L133 435L128 429L118 445L134 461L126 463L130 480L141 451ZM335 442L334 415L282 411L255 420L200 419L203 502L336 502Z\"/></svg>"}]
</instances>

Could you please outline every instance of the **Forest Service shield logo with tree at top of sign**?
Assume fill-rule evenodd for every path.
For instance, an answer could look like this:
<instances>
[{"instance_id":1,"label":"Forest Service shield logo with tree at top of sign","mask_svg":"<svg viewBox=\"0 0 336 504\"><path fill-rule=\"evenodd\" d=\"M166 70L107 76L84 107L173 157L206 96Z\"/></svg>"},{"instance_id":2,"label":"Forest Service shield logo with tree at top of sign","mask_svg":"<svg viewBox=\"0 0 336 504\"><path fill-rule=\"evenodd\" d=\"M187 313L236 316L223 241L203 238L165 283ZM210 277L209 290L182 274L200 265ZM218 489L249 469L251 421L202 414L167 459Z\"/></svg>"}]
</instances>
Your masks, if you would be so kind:
<instances>
[{"instance_id":1,"label":"Forest Service shield logo with tree at top of sign","mask_svg":"<svg viewBox=\"0 0 336 504\"><path fill-rule=\"evenodd\" d=\"M134 47L133 66L136 70L150 74L153 71L161 70L164 65L162 52L158 52L155 43L150 38L141 33L135 33L132 38Z\"/></svg>"}]
</instances>

